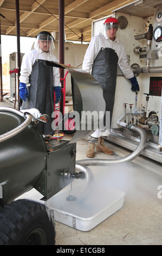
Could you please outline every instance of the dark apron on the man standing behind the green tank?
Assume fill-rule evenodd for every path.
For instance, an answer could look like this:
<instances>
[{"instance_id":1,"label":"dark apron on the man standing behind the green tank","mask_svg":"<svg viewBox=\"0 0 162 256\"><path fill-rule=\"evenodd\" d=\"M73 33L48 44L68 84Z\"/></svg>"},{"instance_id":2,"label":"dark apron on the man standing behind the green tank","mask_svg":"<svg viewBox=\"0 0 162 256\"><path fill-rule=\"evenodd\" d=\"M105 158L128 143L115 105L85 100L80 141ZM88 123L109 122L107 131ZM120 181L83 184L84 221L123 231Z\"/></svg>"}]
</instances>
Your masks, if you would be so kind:
<instances>
[{"instance_id":1,"label":"dark apron on the man standing behind the green tank","mask_svg":"<svg viewBox=\"0 0 162 256\"><path fill-rule=\"evenodd\" d=\"M23 101L22 109L37 108L41 114L48 114L49 122L47 124L39 122L37 127L44 135L49 135L54 120L51 118L54 112L53 67L47 66L41 59L35 60L29 83L29 98Z\"/></svg>"}]
</instances>

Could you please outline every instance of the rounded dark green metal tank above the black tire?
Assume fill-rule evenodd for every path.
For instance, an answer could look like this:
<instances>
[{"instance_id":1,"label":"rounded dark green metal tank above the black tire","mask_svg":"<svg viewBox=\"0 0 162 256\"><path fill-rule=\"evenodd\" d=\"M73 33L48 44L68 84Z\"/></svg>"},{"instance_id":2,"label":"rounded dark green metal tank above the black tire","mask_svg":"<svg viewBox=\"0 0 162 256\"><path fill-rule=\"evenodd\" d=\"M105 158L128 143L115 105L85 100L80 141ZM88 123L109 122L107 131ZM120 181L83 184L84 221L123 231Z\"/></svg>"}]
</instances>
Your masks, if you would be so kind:
<instances>
[{"instance_id":1,"label":"rounded dark green metal tank above the black tire","mask_svg":"<svg viewBox=\"0 0 162 256\"><path fill-rule=\"evenodd\" d=\"M23 124L25 118L13 108L0 108L0 120L1 136ZM0 141L0 185L6 201L3 204L34 187L46 166L46 155L44 138L32 122L16 135Z\"/></svg>"}]
</instances>

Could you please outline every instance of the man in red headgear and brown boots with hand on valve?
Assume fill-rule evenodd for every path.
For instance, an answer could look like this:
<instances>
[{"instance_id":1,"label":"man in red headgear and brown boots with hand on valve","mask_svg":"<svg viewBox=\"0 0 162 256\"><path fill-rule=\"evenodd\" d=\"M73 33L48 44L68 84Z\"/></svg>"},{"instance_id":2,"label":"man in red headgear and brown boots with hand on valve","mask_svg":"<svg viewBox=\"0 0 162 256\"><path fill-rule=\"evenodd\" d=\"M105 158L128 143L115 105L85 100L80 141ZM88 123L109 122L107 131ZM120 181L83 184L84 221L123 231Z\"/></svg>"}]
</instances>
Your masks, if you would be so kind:
<instances>
[{"instance_id":1,"label":"man in red headgear and brown boots with hand on valve","mask_svg":"<svg viewBox=\"0 0 162 256\"><path fill-rule=\"evenodd\" d=\"M131 82L131 90L133 92L139 91L139 84L128 64L124 46L118 38L116 38L118 26L119 22L117 19L113 17L106 19L104 22L104 34L96 35L92 38L82 65L82 69L89 73L92 69L92 75L103 89L103 97L106 102L105 110L110 113L110 121L108 122L109 127L111 127L112 121L118 64L125 77ZM87 138L87 141L89 142L86 154L87 157L95 156L94 150L96 142L96 151L107 155L114 154L113 150L108 149L104 145L104 137L109 135L109 127L106 127L105 115L103 118L103 127L99 127L98 130Z\"/></svg>"}]
</instances>

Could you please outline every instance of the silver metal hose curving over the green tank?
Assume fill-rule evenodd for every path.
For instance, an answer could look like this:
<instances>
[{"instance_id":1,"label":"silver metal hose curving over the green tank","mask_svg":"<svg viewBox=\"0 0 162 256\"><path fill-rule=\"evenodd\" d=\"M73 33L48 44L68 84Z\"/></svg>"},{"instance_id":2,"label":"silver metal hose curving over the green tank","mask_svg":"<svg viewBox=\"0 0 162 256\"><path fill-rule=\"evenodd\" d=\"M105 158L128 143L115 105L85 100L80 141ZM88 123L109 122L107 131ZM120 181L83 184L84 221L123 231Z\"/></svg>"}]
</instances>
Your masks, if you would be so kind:
<instances>
[{"instance_id":1,"label":"silver metal hose curving over the green tank","mask_svg":"<svg viewBox=\"0 0 162 256\"><path fill-rule=\"evenodd\" d=\"M23 113L20 113L19 111L17 111L14 108L0 108L0 111L10 111L12 113L16 113L18 115L21 115L21 117L23 117ZM30 123L32 120L32 115L28 114L27 115L27 119L25 119L25 121L21 124L18 125L15 129L4 133L3 135L0 136L0 143L11 138L14 137L15 135L17 135L18 133L20 133L21 131L23 131Z\"/></svg>"}]
</instances>

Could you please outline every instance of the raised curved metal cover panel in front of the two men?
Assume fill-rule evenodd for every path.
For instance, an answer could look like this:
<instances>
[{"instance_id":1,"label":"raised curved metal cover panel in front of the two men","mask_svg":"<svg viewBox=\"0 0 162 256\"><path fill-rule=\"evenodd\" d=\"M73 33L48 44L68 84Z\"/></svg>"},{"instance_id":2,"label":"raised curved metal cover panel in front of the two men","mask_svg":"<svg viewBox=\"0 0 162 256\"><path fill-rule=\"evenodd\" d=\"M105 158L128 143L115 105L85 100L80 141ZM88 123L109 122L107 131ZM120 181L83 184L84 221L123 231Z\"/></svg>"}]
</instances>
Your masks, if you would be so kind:
<instances>
[{"instance_id":1,"label":"raised curved metal cover panel in front of the two men","mask_svg":"<svg viewBox=\"0 0 162 256\"><path fill-rule=\"evenodd\" d=\"M105 113L105 100L100 84L85 70L48 60L44 62L50 66L67 69L72 77L73 109L77 117L75 115L76 132L69 143L89 136L98 128Z\"/></svg>"}]
</instances>

